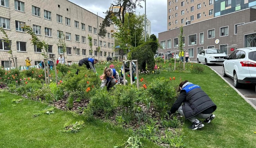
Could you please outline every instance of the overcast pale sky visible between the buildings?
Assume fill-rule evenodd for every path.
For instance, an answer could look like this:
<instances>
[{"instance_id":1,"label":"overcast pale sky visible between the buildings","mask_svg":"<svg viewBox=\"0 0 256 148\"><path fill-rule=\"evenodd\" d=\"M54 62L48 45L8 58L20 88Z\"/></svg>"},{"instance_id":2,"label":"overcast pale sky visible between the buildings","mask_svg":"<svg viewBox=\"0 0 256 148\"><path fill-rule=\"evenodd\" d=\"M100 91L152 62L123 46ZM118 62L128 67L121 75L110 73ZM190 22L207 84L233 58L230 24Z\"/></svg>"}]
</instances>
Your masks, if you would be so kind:
<instances>
[{"instance_id":1,"label":"overcast pale sky visible between the buildings","mask_svg":"<svg viewBox=\"0 0 256 148\"><path fill-rule=\"evenodd\" d=\"M105 17L103 12L109 9L113 0L69 0L100 17ZM145 13L145 2L141 2L143 8L137 8L136 14ZM151 34L158 36L158 33L167 30L167 1L166 0L146 0L146 15L151 22Z\"/></svg>"}]
</instances>

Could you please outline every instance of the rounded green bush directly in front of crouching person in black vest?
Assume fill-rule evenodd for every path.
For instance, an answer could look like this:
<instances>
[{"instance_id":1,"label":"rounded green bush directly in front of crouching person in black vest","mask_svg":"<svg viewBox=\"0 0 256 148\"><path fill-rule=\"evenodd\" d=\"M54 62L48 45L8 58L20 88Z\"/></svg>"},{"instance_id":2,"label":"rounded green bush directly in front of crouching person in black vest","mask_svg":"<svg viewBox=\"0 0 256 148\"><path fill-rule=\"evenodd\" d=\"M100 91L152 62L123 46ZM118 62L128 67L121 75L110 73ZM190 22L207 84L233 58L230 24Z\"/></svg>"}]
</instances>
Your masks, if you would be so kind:
<instances>
[{"instance_id":1,"label":"rounded green bush directly in front of crouching person in black vest","mask_svg":"<svg viewBox=\"0 0 256 148\"><path fill-rule=\"evenodd\" d=\"M159 112L165 112L174 103L177 96L172 82L164 77L157 78L148 85L148 91L152 94L152 103Z\"/></svg>"}]
</instances>

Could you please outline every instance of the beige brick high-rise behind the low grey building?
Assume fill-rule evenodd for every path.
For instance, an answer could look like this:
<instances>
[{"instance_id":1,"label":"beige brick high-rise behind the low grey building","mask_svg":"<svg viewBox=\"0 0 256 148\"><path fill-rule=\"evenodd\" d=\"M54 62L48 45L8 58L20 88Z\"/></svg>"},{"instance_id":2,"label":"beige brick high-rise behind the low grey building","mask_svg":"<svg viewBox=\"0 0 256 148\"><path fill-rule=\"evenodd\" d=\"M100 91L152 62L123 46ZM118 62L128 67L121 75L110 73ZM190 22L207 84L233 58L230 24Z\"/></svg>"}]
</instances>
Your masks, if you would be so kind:
<instances>
[{"instance_id":1,"label":"beige brick high-rise behind the low grey building","mask_svg":"<svg viewBox=\"0 0 256 148\"><path fill-rule=\"evenodd\" d=\"M214 0L167 0L167 30L214 17Z\"/></svg>"}]
</instances>

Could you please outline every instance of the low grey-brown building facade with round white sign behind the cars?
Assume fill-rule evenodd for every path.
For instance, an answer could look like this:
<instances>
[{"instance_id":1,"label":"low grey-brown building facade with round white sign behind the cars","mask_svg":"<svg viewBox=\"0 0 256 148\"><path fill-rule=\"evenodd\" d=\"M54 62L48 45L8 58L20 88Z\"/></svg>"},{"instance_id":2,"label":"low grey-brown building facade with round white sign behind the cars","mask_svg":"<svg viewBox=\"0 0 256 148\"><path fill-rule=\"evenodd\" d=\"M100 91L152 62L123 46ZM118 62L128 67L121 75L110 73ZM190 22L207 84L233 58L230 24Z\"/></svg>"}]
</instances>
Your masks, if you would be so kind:
<instances>
[{"instance_id":1,"label":"low grey-brown building facade with round white sign behind the cars","mask_svg":"<svg viewBox=\"0 0 256 148\"><path fill-rule=\"evenodd\" d=\"M183 49L196 60L202 49L217 48L230 54L235 48L256 47L256 9L247 8L183 26ZM177 51L179 28L158 34L163 49L159 52Z\"/></svg>"}]
</instances>

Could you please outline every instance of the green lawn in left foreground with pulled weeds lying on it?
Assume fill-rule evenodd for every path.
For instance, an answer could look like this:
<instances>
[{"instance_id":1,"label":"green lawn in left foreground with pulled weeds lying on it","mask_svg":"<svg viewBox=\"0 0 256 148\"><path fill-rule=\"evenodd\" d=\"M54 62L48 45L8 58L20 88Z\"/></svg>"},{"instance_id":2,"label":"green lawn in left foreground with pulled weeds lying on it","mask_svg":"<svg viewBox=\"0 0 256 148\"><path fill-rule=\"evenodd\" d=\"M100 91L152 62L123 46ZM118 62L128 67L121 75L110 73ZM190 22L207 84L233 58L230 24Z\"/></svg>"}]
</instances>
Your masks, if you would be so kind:
<instances>
[{"instance_id":1,"label":"green lawn in left foreground with pulled weeds lying on it","mask_svg":"<svg viewBox=\"0 0 256 148\"><path fill-rule=\"evenodd\" d=\"M12 99L20 96L0 93L0 147L114 147L127 141L128 133L99 120L86 122L82 116L56 109L54 114L33 114L49 108L46 104L23 99L16 104ZM85 121L78 133L64 133L67 122ZM158 146L143 140L145 147Z\"/></svg>"}]
</instances>

